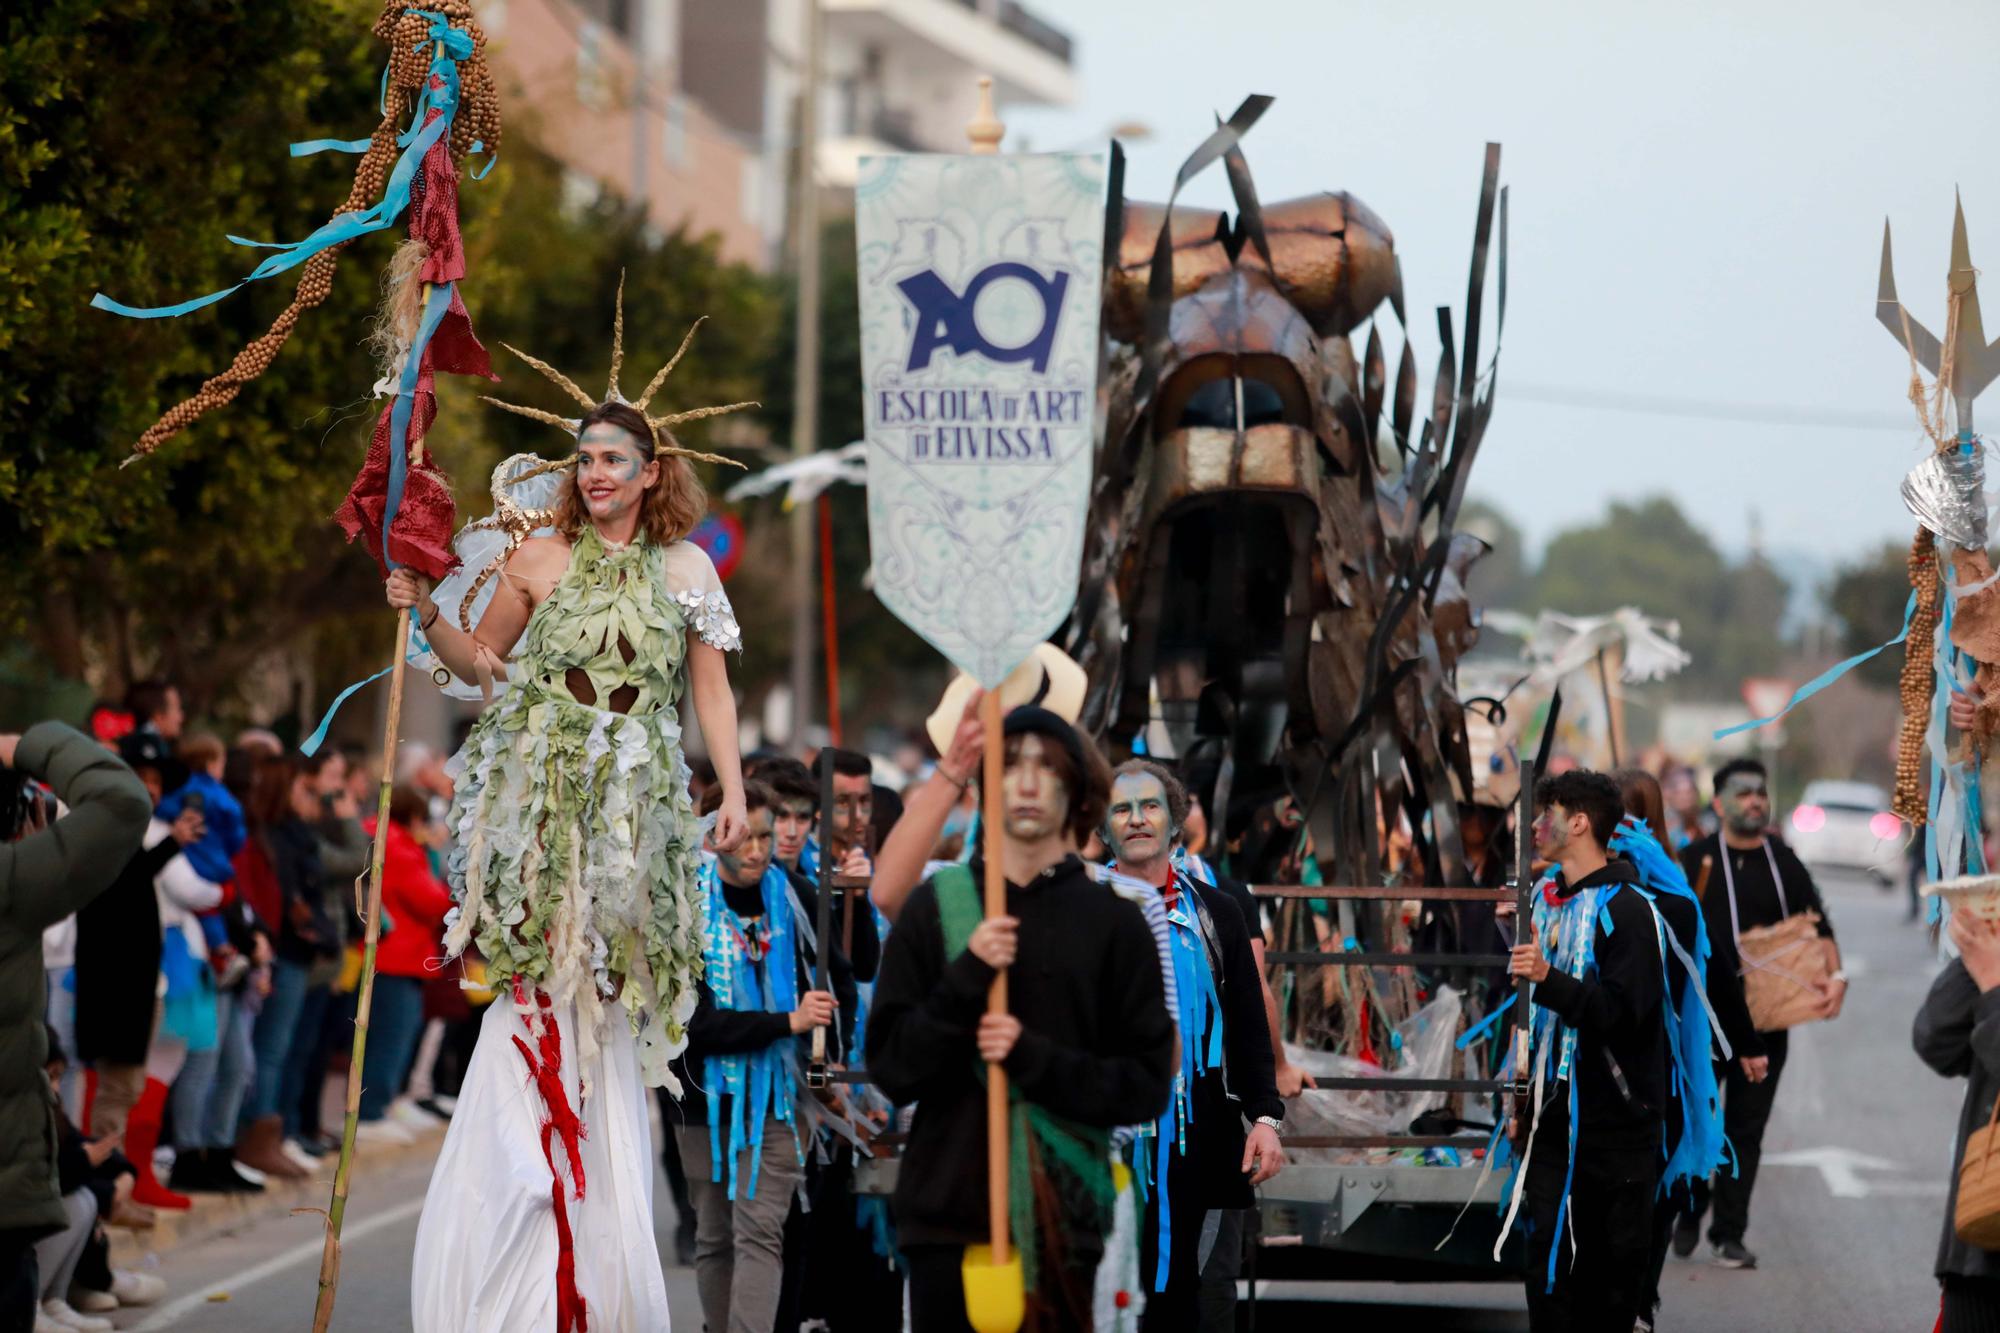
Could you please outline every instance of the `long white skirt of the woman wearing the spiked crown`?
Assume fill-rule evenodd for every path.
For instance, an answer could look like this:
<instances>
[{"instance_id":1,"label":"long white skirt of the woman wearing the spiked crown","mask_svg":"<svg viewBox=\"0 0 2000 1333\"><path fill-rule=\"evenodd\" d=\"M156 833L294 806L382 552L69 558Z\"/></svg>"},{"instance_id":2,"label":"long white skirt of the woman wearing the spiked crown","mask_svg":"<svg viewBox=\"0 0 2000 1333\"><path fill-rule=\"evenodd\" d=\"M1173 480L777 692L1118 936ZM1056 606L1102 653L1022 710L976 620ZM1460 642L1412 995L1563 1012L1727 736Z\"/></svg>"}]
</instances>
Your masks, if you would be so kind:
<instances>
[{"instance_id":1,"label":"long white skirt of the woman wearing the spiked crown","mask_svg":"<svg viewBox=\"0 0 2000 1333\"><path fill-rule=\"evenodd\" d=\"M590 1097L578 1089L576 1015L554 1011L562 1087L584 1123L584 1197L556 1139L574 1235L576 1287L590 1333L666 1333L666 1277L652 1233L652 1129L638 1045L624 1009L598 1029ZM514 1037L536 1049L524 1015L502 995L480 1025L452 1127L444 1135L416 1229L410 1317L416 1333L550 1333L556 1329L556 1207L542 1157L546 1109Z\"/></svg>"}]
</instances>

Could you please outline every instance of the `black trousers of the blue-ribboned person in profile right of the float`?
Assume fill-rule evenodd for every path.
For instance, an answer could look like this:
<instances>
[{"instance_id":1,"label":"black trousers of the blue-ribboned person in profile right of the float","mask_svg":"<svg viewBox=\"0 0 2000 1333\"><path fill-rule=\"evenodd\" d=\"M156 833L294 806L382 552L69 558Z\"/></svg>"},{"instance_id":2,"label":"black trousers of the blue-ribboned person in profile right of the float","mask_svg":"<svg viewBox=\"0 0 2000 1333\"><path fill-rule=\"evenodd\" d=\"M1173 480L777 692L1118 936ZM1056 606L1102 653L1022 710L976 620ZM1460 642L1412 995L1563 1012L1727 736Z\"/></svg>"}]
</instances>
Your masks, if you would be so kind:
<instances>
[{"instance_id":1,"label":"black trousers of the blue-ribboned person in profile right of the float","mask_svg":"<svg viewBox=\"0 0 2000 1333\"><path fill-rule=\"evenodd\" d=\"M1558 1229L1566 1171L1566 1153L1538 1153L1528 1163L1528 1327L1534 1333L1632 1333L1652 1273L1658 1157L1652 1151L1592 1153L1582 1145L1570 1211ZM1552 1251L1554 1285L1548 1277Z\"/></svg>"}]
</instances>

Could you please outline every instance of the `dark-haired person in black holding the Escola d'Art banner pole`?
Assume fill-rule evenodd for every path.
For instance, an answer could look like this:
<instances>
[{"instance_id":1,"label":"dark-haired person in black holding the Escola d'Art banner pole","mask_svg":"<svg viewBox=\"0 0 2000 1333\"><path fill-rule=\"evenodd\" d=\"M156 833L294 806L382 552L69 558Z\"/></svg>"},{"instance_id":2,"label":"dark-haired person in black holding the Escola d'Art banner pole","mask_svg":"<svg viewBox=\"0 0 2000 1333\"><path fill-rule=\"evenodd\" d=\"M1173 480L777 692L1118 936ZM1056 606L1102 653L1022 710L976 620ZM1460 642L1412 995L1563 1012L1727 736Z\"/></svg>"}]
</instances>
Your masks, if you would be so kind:
<instances>
[{"instance_id":1,"label":"dark-haired person in black holding the Escola d'Art banner pole","mask_svg":"<svg viewBox=\"0 0 2000 1333\"><path fill-rule=\"evenodd\" d=\"M882 955L868 1071L916 1103L896 1181L916 1333L964 1333L964 1251L988 1237L984 1067L1014 1091L1008 1215L1038 1331L1090 1329L1112 1225L1110 1131L1152 1121L1174 1087L1174 1021L1144 915L1078 849L1108 797L1104 761L1038 707L1006 715L1006 915L980 921L978 877L944 867L902 907ZM1008 1013L984 1013L1000 969ZM984 1061L984 1065L982 1065Z\"/></svg>"}]
</instances>

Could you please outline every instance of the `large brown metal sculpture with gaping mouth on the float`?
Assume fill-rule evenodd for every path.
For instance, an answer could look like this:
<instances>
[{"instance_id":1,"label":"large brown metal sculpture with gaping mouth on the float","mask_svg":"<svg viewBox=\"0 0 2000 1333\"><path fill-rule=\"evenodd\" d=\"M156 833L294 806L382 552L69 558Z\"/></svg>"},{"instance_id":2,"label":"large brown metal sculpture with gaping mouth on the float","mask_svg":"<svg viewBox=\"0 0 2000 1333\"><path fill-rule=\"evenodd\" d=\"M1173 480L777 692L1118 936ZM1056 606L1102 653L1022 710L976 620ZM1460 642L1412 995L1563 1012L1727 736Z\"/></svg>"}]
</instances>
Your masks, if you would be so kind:
<instances>
[{"instance_id":1,"label":"large brown metal sculpture with gaping mouth on the float","mask_svg":"<svg viewBox=\"0 0 2000 1333\"><path fill-rule=\"evenodd\" d=\"M1170 200L1114 222L1106 432L1068 638L1092 681L1084 721L1118 749L1158 717L1224 815L1292 795L1328 883L1382 883L1378 811L1406 811L1424 883L1458 885L1472 775L1454 666L1478 638L1464 576L1486 544L1456 522L1492 412L1496 218L1506 316L1500 148L1464 350L1438 308L1418 416L1408 334L1390 384L1378 318L1386 304L1404 322L1394 238L1352 194L1258 202L1240 140L1266 104L1246 100L1180 170L1222 158L1234 218Z\"/></svg>"}]
</instances>

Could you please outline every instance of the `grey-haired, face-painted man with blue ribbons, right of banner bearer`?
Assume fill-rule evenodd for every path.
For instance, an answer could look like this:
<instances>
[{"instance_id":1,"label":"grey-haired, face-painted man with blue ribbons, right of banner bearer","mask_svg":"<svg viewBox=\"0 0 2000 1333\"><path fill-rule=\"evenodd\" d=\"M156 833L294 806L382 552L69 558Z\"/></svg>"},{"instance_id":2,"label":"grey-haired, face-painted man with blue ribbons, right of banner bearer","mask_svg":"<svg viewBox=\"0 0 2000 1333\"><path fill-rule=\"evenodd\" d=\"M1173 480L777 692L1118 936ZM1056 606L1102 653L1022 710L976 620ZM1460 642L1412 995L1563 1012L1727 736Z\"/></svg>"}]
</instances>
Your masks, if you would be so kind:
<instances>
[{"instance_id":1,"label":"grey-haired, face-painted man with blue ribbons, right of banner bearer","mask_svg":"<svg viewBox=\"0 0 2000 1333\"><path fill-rule=\"evenodd\" d=\"M1236 887L1246 899L1238 903L1176 865L1186 815L1188 793L1164 765L1132 759L1112 775L1104 843L1122 875L1152 885L1166 901L1180 999L1174 1105L1154 1137L1136 1147L1138 1169L1152 1183L1140 1221L1146 1333L1234 1327L1226 1309L1234 1301L1214 1299L1208 1303L1216 1309L1204 1311L1210 1293L1202 1277L1212 1265L1234 1271L1242 1209L1256 1203L1252 1189L1284 1167L1284 1101L1244 925L1244 911L1256 913L1256 903Z\"/></svg>"}]
</instances>

